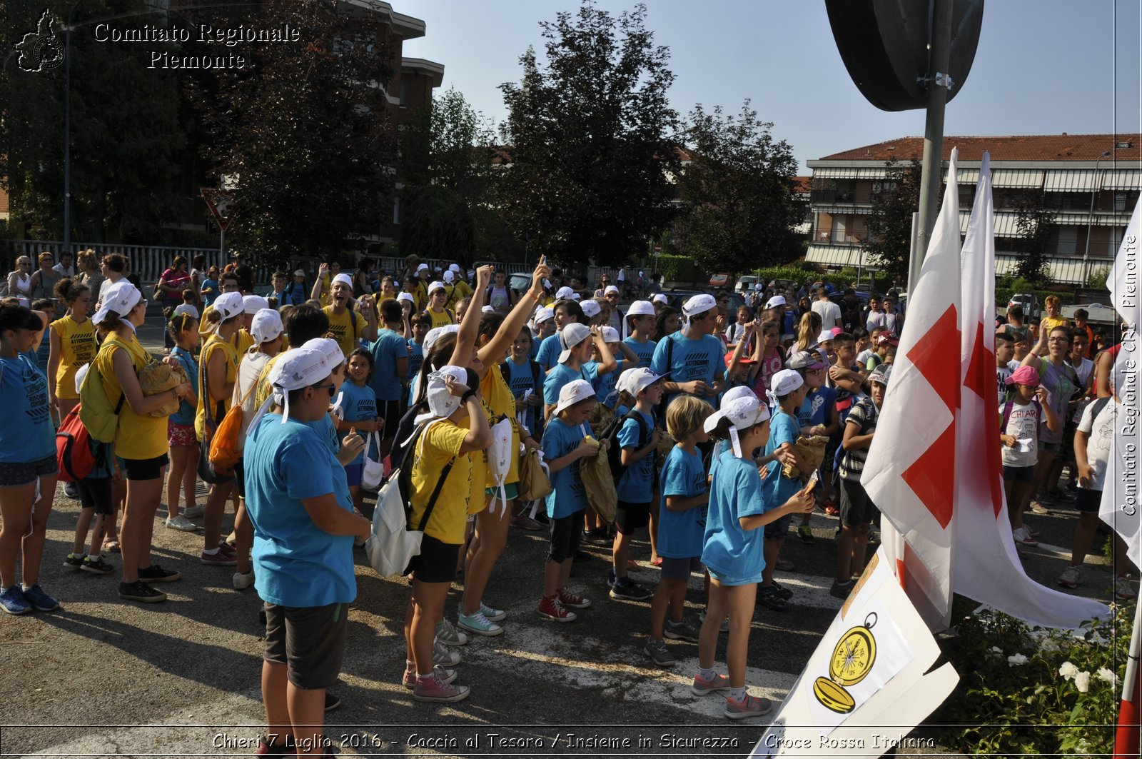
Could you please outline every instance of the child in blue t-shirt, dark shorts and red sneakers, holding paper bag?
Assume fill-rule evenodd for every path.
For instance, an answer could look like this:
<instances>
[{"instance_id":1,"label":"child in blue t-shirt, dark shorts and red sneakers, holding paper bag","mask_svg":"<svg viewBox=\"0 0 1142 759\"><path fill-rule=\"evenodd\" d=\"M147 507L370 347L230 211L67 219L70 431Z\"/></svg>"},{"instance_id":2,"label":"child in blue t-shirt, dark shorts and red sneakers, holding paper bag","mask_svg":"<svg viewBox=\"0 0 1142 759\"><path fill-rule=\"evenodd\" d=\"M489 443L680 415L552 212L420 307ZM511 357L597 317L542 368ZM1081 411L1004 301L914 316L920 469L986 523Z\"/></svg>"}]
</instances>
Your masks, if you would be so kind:
<instances>
[{"instance_id":1,"label":"child in blue t-shirt, dark shorts and red sneakers, holding paper bag","mask_svg":"<svg viewBox=\"0 0 1142 759\"><path fill-rule=\"evenodd\" d=\"M587 456L603 455L600 444L587 439L587 417L595 408L595 391L586 380L573 380L560 390L554 414L544 432L544 460L552 478L547 517L552 546L544 565L544 598L539 615L556 622L573 622L571 608L587 608L590 600L568 591L571 565L579 550L580 527L587 510L587 490L579 474ZM605 445L605 441L604 444Z\"/></svg>"}]
</instances>

